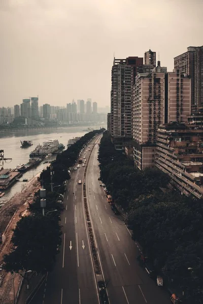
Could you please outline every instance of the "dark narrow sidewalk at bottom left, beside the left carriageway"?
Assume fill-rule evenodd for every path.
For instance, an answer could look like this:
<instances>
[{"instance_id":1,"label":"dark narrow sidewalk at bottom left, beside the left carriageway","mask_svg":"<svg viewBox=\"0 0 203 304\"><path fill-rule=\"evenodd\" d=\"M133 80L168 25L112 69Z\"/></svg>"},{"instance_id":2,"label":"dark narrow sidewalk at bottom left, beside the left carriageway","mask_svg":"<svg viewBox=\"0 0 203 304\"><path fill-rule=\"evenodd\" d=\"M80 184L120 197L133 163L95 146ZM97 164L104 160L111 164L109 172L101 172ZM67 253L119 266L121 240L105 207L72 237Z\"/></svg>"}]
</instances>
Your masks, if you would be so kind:
<instances>
[{"instance_id":1,"label":"dark narrow sidewalk at bottom left, beside the left carriageway","mask_svg":"<svg viewBox=\"0 0 203 304\"><path fill-rule=\"evenodd\" d=\"M29 281L29 290L26 289L27 281L24 279L17 300L17 304L25 304L28 297L31 300L32 296L38 291L38 288L41 286L44 279L45 276L43 275L33 276Z\"/></svg>"}]
</instances>

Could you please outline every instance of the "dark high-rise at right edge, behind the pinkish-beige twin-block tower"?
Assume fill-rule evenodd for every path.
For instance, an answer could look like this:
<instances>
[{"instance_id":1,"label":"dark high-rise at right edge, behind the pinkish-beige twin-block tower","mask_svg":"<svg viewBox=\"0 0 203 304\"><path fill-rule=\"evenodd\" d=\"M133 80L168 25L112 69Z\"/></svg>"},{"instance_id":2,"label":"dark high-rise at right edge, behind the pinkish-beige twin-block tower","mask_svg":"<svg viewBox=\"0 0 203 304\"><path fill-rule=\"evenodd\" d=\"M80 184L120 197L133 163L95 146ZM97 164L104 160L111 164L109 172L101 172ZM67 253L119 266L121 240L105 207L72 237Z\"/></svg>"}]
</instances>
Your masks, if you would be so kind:
<instances>
[{"instance_id":1,"label":"dark high-rise at right edge, behind the pinkish-beige twin-block tower","mask_svg":"<svg viewBox=\"0 0 203 304\"><path fill-rule=\"evenodd\" d=\"M188 47L174 58L174 67L191 77L192 112L203 108L203 46Z\"/></svg>"}]
</instances>

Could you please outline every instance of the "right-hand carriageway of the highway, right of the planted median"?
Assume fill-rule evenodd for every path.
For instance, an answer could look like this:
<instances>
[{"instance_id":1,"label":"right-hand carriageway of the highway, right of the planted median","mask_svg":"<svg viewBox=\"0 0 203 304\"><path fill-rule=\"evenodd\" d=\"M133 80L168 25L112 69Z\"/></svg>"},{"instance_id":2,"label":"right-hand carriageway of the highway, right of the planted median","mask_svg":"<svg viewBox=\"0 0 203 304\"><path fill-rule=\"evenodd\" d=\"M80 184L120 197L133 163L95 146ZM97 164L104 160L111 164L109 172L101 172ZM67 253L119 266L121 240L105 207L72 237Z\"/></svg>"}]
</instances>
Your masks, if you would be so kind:
<instances>
[{"instance_id":1,"label":"right-hand carriageway of the highway, right of the planted median","mask_svg":"<svg viewBox=\"0 0 203 304\"><path fill-rule=\"evenodd\" d=\"M115 215L100 186L95 144L87 170L87 200L96 245L111 304L170 304L168 294L156 286L136 257L139 247L131 240L122 217Z\"/></svg>"}]
</instances>

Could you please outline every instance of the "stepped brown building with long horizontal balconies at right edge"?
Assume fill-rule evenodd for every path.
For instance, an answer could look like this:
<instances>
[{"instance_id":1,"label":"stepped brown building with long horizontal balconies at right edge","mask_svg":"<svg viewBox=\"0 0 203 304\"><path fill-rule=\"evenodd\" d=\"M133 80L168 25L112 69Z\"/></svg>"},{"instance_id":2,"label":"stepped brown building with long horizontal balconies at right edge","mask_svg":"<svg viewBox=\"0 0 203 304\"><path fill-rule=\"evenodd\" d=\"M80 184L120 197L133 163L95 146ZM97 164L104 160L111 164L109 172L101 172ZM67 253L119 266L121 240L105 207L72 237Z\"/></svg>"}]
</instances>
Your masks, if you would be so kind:
<instances>
[{"instance_id":1,"label":"stepped brown building with long horizontal balconies at right edge","mask_svg":"<svg viewBox=\"0 0 203 304\"><path fill-rule=\"evenodd\" d=\"M155 166L172 178L182 194L203 196L203 129L172 123L159 126Z\"/></svg>"}]
</instances>

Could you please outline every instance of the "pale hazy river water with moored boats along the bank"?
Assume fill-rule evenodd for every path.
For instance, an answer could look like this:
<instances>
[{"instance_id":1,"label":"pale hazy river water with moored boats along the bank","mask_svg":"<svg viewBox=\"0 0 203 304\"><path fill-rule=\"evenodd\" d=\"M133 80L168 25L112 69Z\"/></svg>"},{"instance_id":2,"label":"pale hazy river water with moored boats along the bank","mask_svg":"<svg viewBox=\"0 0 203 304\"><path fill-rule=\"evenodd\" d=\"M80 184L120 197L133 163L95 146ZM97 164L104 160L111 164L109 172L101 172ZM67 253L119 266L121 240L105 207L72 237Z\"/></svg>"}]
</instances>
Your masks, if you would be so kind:
<instances>
[{"instance_id":1,"label":"pale hazy river water with moored boats along the bank","mask_svg":"<svg viewBox=\"0 0 203 304\"><path fill-rule=\"evenodd\" d=\"M92 127L99 129L99 126ZM16 130L5 131L0 133L0 149L4 150L5 158L12 158L12 161L4 163L4 169L14 169L17 165L26 164L29 160L30 152L43 141L48 139L58 139L59 143L63 143L67 148L67 141L76 136L83 136L88 131L87 127L65 127L65 128L50 128L50 129L35 129L35 130ZM84 131L86 130L86 131ZM33 145L27 148L21 148L20 140L32 140ZM56 155L51 156L44 161L51 161L56 158ZM41 172L47 167L44 161L37 167L25 172L21 178L28 180ZM2 168L2 164L0 164ZM16 181L7 191L5 195L0 198L0 205L8 201L15 193L21 192L26 182Z\"/></svg>"}]
</instances>

